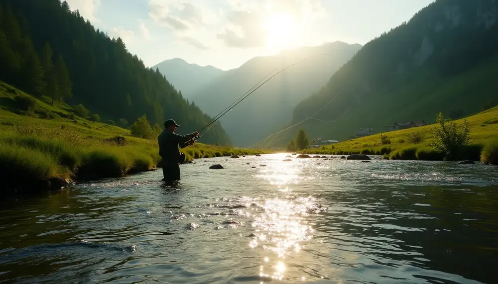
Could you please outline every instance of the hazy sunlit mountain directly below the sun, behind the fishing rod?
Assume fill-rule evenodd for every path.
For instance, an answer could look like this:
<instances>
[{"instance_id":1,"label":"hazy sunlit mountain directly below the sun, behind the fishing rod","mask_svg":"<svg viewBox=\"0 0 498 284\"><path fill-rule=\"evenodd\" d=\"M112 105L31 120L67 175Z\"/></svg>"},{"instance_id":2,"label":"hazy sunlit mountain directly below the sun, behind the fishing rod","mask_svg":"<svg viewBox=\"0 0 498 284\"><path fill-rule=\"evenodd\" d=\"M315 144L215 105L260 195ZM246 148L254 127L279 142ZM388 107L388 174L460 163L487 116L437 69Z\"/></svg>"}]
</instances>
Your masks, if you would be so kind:
<instances>
[{"instance_id":1,"label":"hazy sunlit mountain directly below the sun, behind the fishing rod","mask_svg":"<svg viewBox=\"0 0 498 284\"><path fill-rule=\"evenodd\" d=\"M361 48L359 44L337 41L255 57L200 87L189 99L208 115L216 115L275 68L267 78L301 59L322 54L281 72L220 119L234 145L247 147L279 130L280 125L291 119L294 106L318 92Z\"/></svg>"}]
</instances>

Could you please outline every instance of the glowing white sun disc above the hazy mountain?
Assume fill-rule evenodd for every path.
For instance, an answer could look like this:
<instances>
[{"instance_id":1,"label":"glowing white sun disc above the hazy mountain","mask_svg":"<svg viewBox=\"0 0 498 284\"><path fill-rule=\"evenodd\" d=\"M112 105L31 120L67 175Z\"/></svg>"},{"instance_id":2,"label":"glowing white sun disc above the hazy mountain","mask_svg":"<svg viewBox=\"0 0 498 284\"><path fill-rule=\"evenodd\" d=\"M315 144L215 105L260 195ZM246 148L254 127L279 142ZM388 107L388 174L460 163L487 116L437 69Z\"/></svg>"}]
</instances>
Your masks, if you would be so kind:
<instances>
[{"instance_id":1,"label":"glowing white sun disc above the hazy mountain","mask_svg":"<svg viewBox=\"0 0 498 284\"><path fill-rule=\"evenodd\" d=\"M290 48L292 34L296 29L294 17L289 13L274 13L270 15L264 28L268 34L266 47L274 51Z\"/></svg>"}]
</instances>

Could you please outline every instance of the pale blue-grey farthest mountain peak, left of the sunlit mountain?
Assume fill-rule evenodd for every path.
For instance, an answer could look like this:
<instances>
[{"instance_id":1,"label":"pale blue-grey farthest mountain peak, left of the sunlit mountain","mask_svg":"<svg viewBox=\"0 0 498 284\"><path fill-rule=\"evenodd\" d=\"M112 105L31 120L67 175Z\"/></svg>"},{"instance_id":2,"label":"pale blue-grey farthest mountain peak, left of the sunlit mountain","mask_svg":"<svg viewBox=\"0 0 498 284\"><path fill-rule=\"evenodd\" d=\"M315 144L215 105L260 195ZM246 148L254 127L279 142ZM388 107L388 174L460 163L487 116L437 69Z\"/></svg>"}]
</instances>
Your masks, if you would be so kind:
<instances>
[{"instance_id":1,"label":"pale blue-grey farthest mountain peak, left of the sunlit mountain","mask_svg":"<svg viewBox=\"0 0 498 284\"><path fill-rule=\"evenodd\" d=\"M190 98L190 95L199 87L206 85L225 72L211 65L191 64L181 58L165 60L152 67L153 70L156 68L166 76L166 79L177 91L181 91L185 98Z\"/></svg>"}]
</instances>

